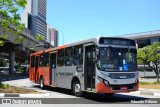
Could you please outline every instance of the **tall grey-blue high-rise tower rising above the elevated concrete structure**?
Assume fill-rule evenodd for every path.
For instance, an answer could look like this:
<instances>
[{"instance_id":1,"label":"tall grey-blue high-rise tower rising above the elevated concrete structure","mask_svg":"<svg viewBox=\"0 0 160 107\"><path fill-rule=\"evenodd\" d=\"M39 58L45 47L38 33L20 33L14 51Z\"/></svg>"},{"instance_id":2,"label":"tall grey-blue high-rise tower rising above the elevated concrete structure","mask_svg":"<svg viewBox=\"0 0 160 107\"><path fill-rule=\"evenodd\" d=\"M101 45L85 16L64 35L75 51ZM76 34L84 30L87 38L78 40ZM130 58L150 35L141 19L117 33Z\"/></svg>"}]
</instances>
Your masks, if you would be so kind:
<instances>
[{"instance_id":1,"label":"tall grey-blue high-rise tower rising above the elevated concrete structure","mask_svg":"<svg viewBox=\"0 0 160 107\"><path fill-rule=\"evenodd\" d=\"M46 0L27 0L25 11L21 14L21 22L26 28L45 37L47 36Z\"/></svg>"}]
</instances>

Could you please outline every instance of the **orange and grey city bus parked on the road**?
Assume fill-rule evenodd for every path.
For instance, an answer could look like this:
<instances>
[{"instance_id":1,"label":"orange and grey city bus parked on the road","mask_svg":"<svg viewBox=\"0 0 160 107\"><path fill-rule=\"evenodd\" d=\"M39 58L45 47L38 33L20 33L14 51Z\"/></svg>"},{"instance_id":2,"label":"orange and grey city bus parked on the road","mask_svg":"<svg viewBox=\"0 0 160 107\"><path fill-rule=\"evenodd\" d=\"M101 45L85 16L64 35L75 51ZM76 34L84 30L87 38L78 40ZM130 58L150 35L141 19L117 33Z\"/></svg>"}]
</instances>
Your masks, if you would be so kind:
<instances>
[{"instance_id":1,"label":"orange and grey city bus parked on the road","mask_svg":"<svg viewBox=\"0 0 160 107\"><path fill-rule=\"evenodd\" d=\"M91 38L30 55L29 78L45 86L113 95L137 91L137 46L120 37Z\"/></svg>"}]
</instances>

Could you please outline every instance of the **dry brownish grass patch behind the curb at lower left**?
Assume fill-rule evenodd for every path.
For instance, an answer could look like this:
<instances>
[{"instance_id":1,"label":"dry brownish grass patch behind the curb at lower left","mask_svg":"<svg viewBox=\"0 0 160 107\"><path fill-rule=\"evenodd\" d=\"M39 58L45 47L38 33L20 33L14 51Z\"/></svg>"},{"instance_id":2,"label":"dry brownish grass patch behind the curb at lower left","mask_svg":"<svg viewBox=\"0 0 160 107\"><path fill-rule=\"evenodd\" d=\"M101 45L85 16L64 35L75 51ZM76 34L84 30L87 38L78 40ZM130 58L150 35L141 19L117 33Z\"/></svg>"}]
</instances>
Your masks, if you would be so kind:
<instances>
[{"instance_id":1,"label":"dry brownish grass patch behind the curb at lower left","mask_svg":"<svg viewBox=\"0 0 160 107\"><path fill-rule=\"evenodd\" d=\"M38 92L31 89L25 89L15 86L9 86L8 84L0 85L0 93L18 93L18 94L43 94L42 92Z\"/></svg>"}]
</instances>

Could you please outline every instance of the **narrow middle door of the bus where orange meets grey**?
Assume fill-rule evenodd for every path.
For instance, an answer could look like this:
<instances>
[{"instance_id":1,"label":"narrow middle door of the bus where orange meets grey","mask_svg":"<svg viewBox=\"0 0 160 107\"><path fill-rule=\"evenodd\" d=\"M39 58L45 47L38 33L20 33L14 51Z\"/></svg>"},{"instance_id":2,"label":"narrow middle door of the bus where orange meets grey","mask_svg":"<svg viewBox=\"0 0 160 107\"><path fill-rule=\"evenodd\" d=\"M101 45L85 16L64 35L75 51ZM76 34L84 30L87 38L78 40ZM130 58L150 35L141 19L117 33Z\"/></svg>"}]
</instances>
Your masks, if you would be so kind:
<instances>
[{"instance_id":1,"label":"narrow middle door of the bus where orange meets grey","mask_svg":"<svg viewBox=\"0 0 160 107\"><path fill-rule=\"evenodd\" d=\"M56 85L56 53L50 54L50 85Z\"/></svg>"}]
</instances>

